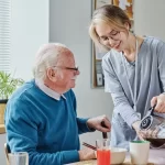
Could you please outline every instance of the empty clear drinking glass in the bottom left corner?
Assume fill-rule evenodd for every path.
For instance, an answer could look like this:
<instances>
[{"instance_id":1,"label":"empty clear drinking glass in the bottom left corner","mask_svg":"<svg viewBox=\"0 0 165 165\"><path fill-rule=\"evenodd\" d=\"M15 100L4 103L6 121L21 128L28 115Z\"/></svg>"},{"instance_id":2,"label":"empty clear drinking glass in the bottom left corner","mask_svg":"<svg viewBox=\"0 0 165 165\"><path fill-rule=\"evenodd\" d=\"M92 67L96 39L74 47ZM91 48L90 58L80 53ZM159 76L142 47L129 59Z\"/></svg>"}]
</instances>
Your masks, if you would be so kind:
<instances>
[{"instance_id":1,"label":"empty clear drinking glass in the bottom left corner","mask_svg":"<svg viewBox=\"0 0 165 165\"><path fill-rule=\"evenodd\" d=\"M29 154L26 152L10 153L9 165L29 165Z\"/></svg>"}]
</instances>

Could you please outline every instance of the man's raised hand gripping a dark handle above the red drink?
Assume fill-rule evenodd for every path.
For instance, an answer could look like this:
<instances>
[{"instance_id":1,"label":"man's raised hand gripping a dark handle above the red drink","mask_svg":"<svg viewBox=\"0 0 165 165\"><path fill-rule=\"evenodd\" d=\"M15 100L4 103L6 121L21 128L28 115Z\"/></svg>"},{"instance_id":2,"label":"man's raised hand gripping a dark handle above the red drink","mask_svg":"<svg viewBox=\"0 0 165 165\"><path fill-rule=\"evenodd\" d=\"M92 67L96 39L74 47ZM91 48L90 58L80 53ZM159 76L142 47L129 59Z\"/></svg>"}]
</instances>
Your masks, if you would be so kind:
<instances>
[{"instance_id":1,"label":"man's raised hand gripping a dark handle above the red drink","mask_svg":"<svg viewBox=\"0 0 165 165\"><path fill-rule=\"evenodd\" d=\"M101 125L102 121L105 122L106 127ZM90 119L88 119L87 124L88 124L89 129L96 129L101 132L110 132L110 130L111 130L111 123L106 116L90 118Z\"/></svg>"}]
</instances>

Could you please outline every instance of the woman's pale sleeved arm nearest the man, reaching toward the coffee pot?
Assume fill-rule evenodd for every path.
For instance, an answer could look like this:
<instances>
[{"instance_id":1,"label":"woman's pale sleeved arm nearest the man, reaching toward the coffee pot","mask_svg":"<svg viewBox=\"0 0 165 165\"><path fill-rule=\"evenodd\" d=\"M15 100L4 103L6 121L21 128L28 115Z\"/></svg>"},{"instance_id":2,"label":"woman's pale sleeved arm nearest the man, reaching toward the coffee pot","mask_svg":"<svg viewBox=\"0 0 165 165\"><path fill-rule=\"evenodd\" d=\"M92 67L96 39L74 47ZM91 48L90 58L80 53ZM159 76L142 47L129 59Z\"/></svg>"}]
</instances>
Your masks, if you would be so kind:
<instances>
[{"instance_id":1,"label":"woman's pale sleeved arm nearest the man, reaching toward the coffee pot","mask_svg":"<svg viewBox=\"0 0 165 165\"><path fill-rule=\"evenodd\" d=\"M102 69L105 74L105 90L110 92L112 96L114 111L120 113L128 125L132 128L132 124L135 121L141 120L139 114L130 105L110 62L108 63L107 61L102 59Z\"/></svg>"}]
</instances>

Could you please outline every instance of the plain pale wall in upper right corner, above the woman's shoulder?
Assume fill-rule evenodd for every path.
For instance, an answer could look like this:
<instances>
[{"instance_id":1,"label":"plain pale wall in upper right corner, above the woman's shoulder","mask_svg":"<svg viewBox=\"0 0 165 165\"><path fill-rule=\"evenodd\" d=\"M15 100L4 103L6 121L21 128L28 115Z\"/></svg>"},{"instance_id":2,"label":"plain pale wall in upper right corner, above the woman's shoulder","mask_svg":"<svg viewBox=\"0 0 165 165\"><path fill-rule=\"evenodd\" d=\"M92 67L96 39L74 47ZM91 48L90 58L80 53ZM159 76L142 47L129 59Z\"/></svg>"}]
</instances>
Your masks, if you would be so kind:
<instances>
[{"instance_id":1,"label":"plain pale wall in upper right corner, above the woman's shoulder","mask_svg":"<svg viewBox=\"0 0 165 165\"><path fill-rule=\"evenodd\" d=\"M134 0L135 33L165 41L165 0Z\"/></svg>"}]
</instances>

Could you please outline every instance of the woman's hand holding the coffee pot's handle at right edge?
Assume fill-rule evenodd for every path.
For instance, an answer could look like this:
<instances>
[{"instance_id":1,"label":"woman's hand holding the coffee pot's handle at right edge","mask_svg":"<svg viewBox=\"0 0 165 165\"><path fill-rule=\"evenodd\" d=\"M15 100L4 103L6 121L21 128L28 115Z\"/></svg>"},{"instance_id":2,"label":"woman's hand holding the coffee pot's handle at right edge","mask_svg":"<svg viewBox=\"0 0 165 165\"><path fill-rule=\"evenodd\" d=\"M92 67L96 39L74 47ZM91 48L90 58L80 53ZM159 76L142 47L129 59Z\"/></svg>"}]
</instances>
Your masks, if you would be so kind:
<instances>
[{"instance_id":1,"label":"woman's hand holding the coffee pot's handle at right edge","mask_svg":"<svg viewBox=\"0 0 165 165\"><path fill-rule=\"evenodd\" d=\"M160 96L153 97L151 100L151 106L155 107L155 111L160 113L165 113L165 94L161 94Z\"/></svg>"}]
</instances>

